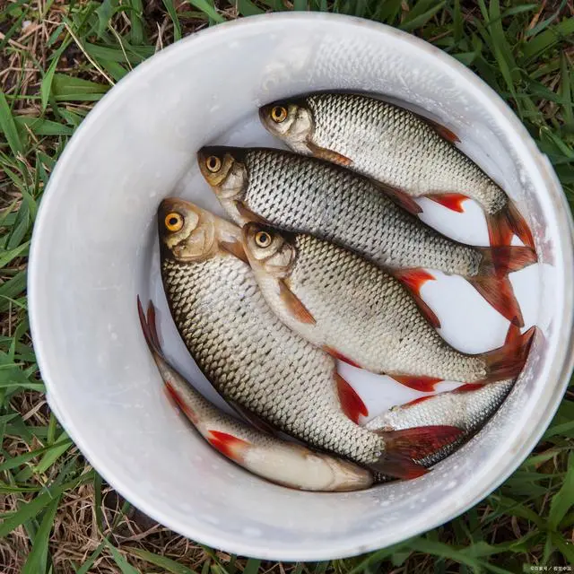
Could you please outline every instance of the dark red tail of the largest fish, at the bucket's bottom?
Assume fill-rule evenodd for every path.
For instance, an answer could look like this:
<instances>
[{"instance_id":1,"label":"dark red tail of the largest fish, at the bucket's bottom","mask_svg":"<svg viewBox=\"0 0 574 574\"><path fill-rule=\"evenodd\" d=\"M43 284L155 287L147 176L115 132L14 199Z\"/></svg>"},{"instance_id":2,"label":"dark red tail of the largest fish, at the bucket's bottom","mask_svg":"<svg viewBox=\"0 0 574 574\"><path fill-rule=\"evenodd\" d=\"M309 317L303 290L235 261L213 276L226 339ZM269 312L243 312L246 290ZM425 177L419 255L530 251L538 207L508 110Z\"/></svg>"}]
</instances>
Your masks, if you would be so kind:
<instances>
[{"instance_id":1,"label":"dark red tail of the largest fish, at the bucket's bottom","mask_svg":"<svg viewBox=\"0 0 574 574\"><path fill-rule=\"evenodd\" d=\"M428 471L415 463L460 439L463 429L449 425L413 427L399 431L375 431L385 441L385 452L370 467L396 478L417 478Z\"/></svg>"}]
</instances>

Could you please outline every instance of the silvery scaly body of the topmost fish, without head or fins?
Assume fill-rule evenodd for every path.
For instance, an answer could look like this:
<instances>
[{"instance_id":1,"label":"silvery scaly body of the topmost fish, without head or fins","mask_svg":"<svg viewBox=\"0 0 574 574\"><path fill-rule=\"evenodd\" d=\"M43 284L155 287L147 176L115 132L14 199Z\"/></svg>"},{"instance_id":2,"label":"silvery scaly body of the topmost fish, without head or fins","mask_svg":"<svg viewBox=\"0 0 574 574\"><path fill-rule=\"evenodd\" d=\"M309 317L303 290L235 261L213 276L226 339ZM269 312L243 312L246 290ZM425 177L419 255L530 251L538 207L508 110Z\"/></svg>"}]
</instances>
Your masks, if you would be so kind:
<instances>
[{"instance_id":1,"label":"silvery scaly body of the topmost fish, without head or fins","mask_svg":"<svg viewBox=\"0 0 574 574\"><path fill-rule=\"evenodd\" d=\"M421 117L382 100L341 96L305 99L314 117L313 143L352 157L353 169L377 174L413 196L459 193L472 196L487 213L507 204L502 189Z\"/></svg>"}]
</instances>

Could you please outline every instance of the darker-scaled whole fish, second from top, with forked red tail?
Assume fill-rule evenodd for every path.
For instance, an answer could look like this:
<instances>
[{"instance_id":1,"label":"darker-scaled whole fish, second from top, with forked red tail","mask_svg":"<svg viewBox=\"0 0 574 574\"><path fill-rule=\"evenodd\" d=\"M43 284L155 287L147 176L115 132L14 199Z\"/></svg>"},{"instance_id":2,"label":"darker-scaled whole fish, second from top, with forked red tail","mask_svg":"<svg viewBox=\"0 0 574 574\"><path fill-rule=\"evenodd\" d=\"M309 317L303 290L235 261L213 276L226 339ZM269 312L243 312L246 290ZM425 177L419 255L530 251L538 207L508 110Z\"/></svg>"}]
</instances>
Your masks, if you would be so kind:
<instances>
[{"instance_id":1,"label":"darker-scaled whole fish, second from top, with forked red tail","mask_svg":"<svg viewBox=\"0 0 574 574\"><path fill-rule=\"evenodd\" d=\"M422 300L428 269L465 277L509 321L524 319L509 273L532 265L528 247L480 248L448 239L350 170L293 152L204 147L199 168L230 218L311 233L392 270L431 324L439 318Z\"/></svg>"}]
</instances>

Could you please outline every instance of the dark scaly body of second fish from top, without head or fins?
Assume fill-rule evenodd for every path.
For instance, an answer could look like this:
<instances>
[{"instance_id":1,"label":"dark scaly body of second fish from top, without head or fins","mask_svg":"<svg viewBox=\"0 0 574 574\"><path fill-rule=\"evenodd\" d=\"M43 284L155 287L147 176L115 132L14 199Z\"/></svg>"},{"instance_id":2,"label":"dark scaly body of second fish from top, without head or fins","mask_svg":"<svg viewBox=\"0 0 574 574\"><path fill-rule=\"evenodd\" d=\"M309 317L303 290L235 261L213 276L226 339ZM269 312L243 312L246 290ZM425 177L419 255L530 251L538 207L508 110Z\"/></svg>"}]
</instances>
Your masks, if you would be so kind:
<instances>
[{"instance_id":1,"label":"dark scaly body of second fish from top, without head or fins","mask_svg":"<svg viewBox=\"0 0 574 574\"><path fill-rule=\"evenodd\" d=\"M285 230L314 233L391 268L474 276L482 255L406 213L366 178L290 152L248 150L252 212ZM279 177L281 176L281 177Z\"/></svg>"}]
</instances>

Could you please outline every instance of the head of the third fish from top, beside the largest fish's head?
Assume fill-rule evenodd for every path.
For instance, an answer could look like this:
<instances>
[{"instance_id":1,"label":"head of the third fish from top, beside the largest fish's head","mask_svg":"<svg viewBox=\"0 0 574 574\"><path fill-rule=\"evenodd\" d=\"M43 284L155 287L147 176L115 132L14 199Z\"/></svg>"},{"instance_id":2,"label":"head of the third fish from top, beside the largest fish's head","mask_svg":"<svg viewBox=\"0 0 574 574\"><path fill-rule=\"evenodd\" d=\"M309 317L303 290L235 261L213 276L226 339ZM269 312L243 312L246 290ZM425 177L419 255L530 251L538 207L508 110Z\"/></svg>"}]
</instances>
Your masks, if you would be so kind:
<instances>
[{"instance_id":1,"label":"head of the third fish from top, beside the largest fish's head","mask_svg":"<svg viewBox=\"0 0 574 574\"><path fill-rule=\"evenodd\" d=\"M275 230L264 223L249 222L243 227L243 245L249 265L256 273L275 279L291 274L297 253L290 233Z\"/></svg>"}]
</instances>

